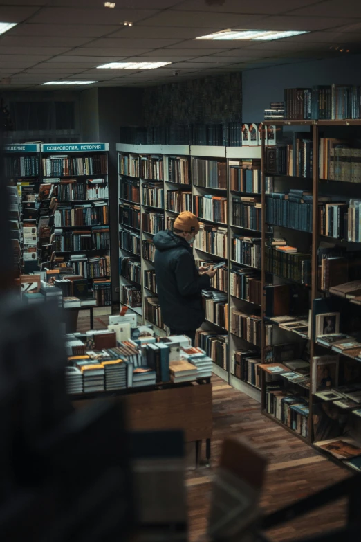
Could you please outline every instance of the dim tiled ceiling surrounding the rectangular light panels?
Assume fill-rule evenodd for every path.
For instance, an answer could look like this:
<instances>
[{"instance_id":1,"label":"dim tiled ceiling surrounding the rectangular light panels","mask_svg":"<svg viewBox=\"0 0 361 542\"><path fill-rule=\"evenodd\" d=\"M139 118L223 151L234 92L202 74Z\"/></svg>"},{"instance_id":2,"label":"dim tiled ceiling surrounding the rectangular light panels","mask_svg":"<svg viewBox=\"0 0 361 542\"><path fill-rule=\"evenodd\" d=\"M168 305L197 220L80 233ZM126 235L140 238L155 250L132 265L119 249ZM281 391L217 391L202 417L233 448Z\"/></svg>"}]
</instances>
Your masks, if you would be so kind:
<instances>
[{"instance_id":1,"label":"dim tiled ceiling surrounding the rectangular light panels","mask_svg":"<svg viewBox=\"0 0 361 542\"><path fill-rule=\"evenodd\" d=\"M115 0L114 9L103 3L0 0L0 21L18 23L0 36L0 87L45 91L57 87L42 83L61 79L146 87L174 82L174 71L182 80L361 51L360 0ZM225 28L310 33L263 43L194 41ZM336 46L350 52L336 53ZM96 69L123 60L172 64Z\"/></svg>"}]
</instances>

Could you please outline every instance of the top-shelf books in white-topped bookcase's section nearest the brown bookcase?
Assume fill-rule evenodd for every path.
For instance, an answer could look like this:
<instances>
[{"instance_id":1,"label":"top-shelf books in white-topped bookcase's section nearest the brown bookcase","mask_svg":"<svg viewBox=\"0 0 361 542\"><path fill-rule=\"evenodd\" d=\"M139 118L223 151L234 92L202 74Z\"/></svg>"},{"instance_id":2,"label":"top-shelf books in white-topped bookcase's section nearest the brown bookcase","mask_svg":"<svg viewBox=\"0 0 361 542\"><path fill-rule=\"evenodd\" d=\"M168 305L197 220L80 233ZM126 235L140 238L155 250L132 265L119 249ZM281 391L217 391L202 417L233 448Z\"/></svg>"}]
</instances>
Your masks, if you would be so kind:
<instances>
[{"instance_id":1,"label":"top-shelf books in white-topped bookcase's section nearest the brown bookcase","mask_svg":"<svg viewBox=\"0 0 361 542\"><path fill-rule=\"evenodd\" d=\"M261 161L259 159L230 161L230 190L261 193Z\"/></svg>"}]
</instances>

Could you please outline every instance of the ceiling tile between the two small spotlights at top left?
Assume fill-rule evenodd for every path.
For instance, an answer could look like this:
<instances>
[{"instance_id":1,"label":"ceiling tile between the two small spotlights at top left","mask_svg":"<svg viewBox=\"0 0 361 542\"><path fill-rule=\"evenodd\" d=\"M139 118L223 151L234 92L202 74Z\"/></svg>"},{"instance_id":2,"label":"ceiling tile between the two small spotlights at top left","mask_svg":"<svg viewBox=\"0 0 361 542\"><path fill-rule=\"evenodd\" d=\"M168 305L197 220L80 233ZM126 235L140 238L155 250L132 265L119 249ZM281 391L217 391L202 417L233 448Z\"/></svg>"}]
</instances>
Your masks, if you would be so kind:
<instances>
[{"instance_id":1,"label":"ceiling tile between the two small spotlights at top left","mask_svg":"<svg viewBox=\"0 0 361 542\"><path fill-rule=\"evenodd\" d=\"M123 24L124 21L136 22L154 15L154 10L129 10L115 8L44 8L35 17L33 23L52 24Z\"/></svg>"}]
</instances>

